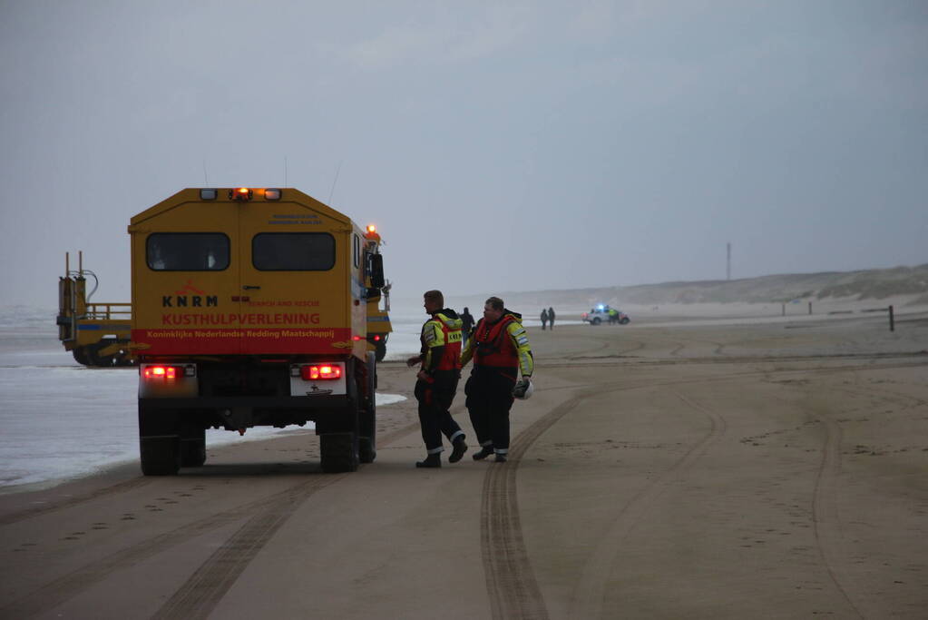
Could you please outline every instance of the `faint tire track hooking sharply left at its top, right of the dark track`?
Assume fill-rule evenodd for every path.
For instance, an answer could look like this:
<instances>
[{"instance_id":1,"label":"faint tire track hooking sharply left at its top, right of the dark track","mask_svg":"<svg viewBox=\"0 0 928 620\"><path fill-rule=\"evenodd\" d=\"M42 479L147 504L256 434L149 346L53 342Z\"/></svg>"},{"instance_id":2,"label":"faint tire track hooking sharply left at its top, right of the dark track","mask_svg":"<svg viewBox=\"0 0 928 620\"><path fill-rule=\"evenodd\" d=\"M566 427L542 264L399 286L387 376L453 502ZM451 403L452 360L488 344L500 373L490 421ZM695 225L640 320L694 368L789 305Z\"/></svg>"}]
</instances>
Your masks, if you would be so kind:
<instances>
[{"instance_id":1,"label":"faint tire track hooking sharply left at its top, right of the dark track","mask_svg":"<svg viewBox=\"0 0 928 620\"><path fill-rule=\"evenodd\" d=\"M588 620L602 617L602 601L605 597L606 582L612 574L612 566L625 542L625 538L651 510L651 506L660 497L667 487L677 481L682 471L702 457L703 454L721 438L726 430L727 423L722 416L707 407L690 400L686 396L675 393L685 405L702 413L710 422L709 430L686 454L677 459L671 467L641 489L631 498L625 507L619 511L615 520L609 526L606 534L597 541L596 550L587 560L580 581L574 589L568 617Z\"/></svg>"}]
</instances>

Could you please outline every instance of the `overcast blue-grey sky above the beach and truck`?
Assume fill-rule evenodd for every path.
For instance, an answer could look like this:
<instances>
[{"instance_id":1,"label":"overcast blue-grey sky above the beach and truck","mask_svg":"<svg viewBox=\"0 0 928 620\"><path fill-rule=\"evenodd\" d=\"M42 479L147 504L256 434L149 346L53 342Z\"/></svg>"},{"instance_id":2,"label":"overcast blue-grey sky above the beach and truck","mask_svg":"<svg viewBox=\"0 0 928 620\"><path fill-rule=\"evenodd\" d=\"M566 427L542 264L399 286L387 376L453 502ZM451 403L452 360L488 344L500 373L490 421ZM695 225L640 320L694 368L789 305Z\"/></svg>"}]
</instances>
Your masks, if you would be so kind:
<instances>
[{"instance_id":1,"label":"overcast blue-grey sky above the beach and truck","mask_svg":"<svg viewBox=\"0 0 928 620\"><path fill-rule=\"evenodd\" d=\"M928 262L922 0L0 0L0 88L3 304L285 159L401 296Z\"/></svg>"}]
</instances>

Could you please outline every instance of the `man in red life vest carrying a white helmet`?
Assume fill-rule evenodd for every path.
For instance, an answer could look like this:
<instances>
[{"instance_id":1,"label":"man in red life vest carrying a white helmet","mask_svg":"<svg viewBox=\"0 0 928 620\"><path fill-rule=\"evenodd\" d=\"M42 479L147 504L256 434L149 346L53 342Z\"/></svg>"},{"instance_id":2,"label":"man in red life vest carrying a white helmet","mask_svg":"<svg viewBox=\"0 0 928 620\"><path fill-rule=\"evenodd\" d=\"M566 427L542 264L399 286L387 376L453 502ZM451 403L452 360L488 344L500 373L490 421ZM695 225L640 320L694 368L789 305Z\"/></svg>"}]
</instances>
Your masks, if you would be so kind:
<instances>
[{"instance_id":1,"label":"man in red life vest carrying a white helmet","mask_svg":"<svg viewBox=\"0 0 928 620\"><path fill-rule=\"evenodd\" d=\"M522 315L507 310L498 297L486 300L483 318L461 354L461 366L466 366L471 358L473 370L464 394L470 423L481 446L473 459L496 454L496 462L505 463L513 394L525 394L535 369ZM517 382L520 373L522 380Z\"/></svg>"}]
</instances>

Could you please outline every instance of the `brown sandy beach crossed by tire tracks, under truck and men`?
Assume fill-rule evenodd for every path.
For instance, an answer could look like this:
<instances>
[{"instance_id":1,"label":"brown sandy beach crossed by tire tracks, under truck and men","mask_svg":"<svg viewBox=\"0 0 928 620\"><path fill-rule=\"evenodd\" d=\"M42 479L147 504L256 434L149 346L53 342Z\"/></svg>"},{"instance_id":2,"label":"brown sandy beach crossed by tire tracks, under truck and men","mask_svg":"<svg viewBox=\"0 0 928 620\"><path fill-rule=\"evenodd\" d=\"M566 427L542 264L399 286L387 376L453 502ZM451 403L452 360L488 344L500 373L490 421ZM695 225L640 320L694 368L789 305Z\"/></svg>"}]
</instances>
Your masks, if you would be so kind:
<instances>
[{"instance_id":1,"label":"brown sandy beach crossed by tire tracks, under truck and men","mask_svg":"<svg viewBox=\"0 0 928 620\"><path fill-rule=\"evenodd\" d=\"M504 465L416 470L390 362L357 472L307 432L0 496L0 617L924 617L928 313L703 315L530 329Z\"/></svg>"}]
</instances>

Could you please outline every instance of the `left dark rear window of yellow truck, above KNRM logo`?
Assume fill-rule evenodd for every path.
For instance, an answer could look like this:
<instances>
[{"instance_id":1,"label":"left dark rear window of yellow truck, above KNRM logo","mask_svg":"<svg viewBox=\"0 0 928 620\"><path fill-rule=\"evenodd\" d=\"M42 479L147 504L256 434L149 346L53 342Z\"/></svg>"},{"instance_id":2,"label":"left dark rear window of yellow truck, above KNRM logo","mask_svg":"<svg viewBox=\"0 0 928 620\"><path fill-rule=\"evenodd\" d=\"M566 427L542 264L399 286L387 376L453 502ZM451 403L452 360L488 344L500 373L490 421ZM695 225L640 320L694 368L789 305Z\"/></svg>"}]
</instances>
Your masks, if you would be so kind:
<instances>
[{"instance_id":1,"label":"left dark rear window of yellow truck, above KNRM logo","mask_svg":"<svg viewBox=\"0 0 928 620\"><path fill-rule=\"evenodd\" d=\"M223 233L153 233L145 253L155 271L223 271L229 266L229 238Z\"/></svg>"}]
</instances>

